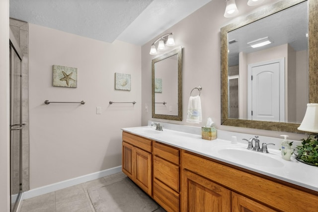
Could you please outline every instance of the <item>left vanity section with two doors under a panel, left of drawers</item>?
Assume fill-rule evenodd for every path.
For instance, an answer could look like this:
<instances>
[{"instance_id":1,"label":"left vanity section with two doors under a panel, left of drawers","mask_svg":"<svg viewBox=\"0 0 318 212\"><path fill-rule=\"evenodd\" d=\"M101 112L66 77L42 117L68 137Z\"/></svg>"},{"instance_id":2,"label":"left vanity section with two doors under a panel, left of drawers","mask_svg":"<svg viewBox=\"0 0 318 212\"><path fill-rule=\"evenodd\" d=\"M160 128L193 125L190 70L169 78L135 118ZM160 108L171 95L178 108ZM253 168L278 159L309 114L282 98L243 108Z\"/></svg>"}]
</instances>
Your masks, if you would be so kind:
<instances>
[{"instance_id":1,"label":"left vanity section with two doors under a panel, left of drawers","mask_svg":"<svg viewBox=\"0 0 318 212\"><path fill-rule=\"evenodd\" d=\"M123 132L122 171L152 196L152 141Z\"/></svg>"}]
</instances>

